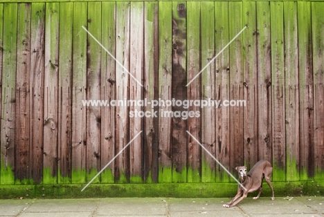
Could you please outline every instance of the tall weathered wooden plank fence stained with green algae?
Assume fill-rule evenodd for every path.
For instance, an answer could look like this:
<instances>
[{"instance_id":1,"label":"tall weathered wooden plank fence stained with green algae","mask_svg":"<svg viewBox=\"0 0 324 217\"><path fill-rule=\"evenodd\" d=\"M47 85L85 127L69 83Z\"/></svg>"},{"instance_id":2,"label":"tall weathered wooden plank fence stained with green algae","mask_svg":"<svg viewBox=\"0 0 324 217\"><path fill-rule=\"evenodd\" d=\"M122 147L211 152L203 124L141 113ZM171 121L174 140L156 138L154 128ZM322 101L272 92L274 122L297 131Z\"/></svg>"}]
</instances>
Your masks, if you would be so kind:
<instances>
[{"instance_id":1,"label":"tall weathered wooden plank fence stained with green algae","mask_svg":"<svg viewBox=\"0 0 324 217\"><path fill-rule=\"evenodd\" d=\"M0 184L89 182L141 131L94 183L233 181L186 131L232 173L265 159L275 181L323 180L323 11L321 1L0 3ZM113 104L144 99L246 106Z\"/></svg>"}]
</instances>

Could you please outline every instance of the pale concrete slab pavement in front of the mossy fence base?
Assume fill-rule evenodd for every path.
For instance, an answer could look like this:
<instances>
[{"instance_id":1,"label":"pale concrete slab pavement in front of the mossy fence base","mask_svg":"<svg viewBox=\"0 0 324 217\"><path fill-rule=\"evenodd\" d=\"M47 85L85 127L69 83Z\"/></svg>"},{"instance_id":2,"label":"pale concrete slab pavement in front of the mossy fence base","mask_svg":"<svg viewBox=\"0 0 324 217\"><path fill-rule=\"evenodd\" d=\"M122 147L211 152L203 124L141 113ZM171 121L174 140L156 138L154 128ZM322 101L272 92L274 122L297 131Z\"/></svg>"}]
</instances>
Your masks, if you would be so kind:
<instances>
[{"instance_id":1,"label":"pale concrete slab pavement in front of the mossy fence base","mask_svg":"<svg viewBox=\"0 0 324 217\"><path fill-rule=\"evenodd\" d=\"M230 198L87 198L0 200L0 216L324 216L324 197L243 200L222 207Z\"/></svg>"}]
</instances>

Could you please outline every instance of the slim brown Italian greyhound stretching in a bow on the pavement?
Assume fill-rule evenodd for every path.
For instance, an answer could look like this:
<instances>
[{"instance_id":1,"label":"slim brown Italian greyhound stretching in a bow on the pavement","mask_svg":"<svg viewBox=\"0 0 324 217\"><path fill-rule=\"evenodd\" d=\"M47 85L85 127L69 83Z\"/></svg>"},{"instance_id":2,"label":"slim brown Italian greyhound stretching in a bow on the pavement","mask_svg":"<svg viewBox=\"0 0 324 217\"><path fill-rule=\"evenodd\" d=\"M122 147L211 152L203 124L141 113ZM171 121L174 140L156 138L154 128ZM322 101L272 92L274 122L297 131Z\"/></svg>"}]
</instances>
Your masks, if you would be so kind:
<instances>
[{"instance_id":1,"label":"slim brown Italian greyhound stretching in a bow on the pavement","mask_svg":"<svg viewBox=\"0 0 324 217\"><path fill-rule=\"evenodd\" d=\"M231 200L231 202L228 202L228 204L223 205L223 207L233 207L237 205L237 203L241 202L244 198L246 198L248 193L259 189L258 196L253 197L253 200L258 199L262 192L263 178L266 180L269 187L271 188L272 191L271 200L274 200L273 187L270 182L270 177L272 174L272 166L269 161L260 160L252 167L252 169L247 174L246 174L246 167L244 166L236 167L235 169L240 176L241 184L246 188L246 190L241 185L239 185L237 187L237 194L235 195L235 197Z\"/></svg>"}]
</instances>

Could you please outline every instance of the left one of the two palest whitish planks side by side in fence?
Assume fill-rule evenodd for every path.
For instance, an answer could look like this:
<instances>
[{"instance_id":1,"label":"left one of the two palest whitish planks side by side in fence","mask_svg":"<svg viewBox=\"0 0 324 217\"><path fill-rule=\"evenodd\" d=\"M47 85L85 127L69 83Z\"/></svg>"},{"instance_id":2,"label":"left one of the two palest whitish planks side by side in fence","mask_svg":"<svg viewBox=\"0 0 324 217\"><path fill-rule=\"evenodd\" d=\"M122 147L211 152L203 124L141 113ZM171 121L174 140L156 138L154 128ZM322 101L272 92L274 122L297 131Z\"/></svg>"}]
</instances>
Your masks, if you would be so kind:
<instances>
[{"instance_id":1,"label":"left one of the two palest whitish planks side by side in fence","mask_svg":"<svg viewBox=\"0 0 324 217\"><path fill-rule=\"evenodd\" d=\"M116 3L116 59L129 70L129 2ZM129 75L121 66L116 65L116 100L129 97ZM116 147L118 153L129 142L129 109L127 106L116 107ZM134 144L132 144L134 145ZM129 182L129 148L115 160L115 182Z\"/></svg>"}]
</instances>

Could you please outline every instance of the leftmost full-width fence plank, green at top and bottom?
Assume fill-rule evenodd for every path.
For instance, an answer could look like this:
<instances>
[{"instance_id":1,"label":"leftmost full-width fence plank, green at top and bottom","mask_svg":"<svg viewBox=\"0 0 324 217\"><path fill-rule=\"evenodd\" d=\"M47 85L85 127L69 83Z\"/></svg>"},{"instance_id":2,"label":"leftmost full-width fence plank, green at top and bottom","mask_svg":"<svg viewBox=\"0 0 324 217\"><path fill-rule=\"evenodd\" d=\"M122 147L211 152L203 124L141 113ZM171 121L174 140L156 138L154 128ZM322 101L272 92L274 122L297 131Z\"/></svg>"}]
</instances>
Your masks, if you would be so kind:
<instances>
[{"instance_id":1,"label":"leftmost full-width fence plank, green at top and bottom","mask_svg":"<svg viewBox=\"0 0 324 217\"><path fill-rule=\"evenodd\" d=\"M1 96L1 185L15 183L15 101L17 3L3 6L3 71Z\"/></svg>"}]
</instances>

